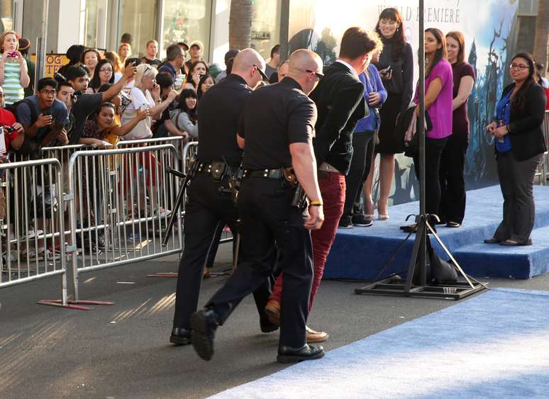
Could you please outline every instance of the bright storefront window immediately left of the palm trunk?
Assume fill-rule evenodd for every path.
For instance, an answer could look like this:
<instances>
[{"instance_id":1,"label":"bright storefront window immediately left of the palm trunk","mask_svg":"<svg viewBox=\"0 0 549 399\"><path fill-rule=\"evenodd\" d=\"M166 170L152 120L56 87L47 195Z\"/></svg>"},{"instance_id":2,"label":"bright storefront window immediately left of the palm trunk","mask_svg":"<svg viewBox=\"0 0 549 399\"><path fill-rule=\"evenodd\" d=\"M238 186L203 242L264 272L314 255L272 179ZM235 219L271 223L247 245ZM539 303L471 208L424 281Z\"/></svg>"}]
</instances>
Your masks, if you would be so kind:
<instances>
[{"instance_id":1,"label":"bright storefront window immediately left of the palm trunk","mask_svg":"<svg viewBox=\"0 0 549 399\"><path fill-rule=\"evenodd\" d=\"M203 57L208 57L210 35L211 0L165 0L162 55L166 47L193 40L204 43Z\"/></svg>"}]
</instances>

